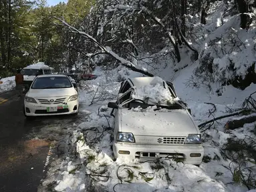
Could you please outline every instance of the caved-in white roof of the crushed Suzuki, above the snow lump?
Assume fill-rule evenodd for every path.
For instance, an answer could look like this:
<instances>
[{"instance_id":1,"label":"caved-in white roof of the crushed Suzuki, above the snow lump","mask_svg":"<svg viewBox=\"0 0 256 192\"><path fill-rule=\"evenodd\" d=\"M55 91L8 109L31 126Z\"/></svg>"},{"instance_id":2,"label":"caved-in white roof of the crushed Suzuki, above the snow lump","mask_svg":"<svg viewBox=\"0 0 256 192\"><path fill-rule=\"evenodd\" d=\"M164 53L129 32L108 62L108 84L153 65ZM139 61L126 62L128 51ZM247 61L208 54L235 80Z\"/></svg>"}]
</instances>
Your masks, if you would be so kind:
<instances>
[{"instance_id":1,"label":"caved-in white roof of the crushed Suzuki, above the snow lump","mask_svg":"<svg viewBox=\"0 0 256 192\"><path fill-rule=\"evenodd\" d=\"M165 88L165 81L160 77L135 77L130 79L132 81L134 87L140 88L146 85L156 85L160 84Z\"/></svg>"}]
</instances>

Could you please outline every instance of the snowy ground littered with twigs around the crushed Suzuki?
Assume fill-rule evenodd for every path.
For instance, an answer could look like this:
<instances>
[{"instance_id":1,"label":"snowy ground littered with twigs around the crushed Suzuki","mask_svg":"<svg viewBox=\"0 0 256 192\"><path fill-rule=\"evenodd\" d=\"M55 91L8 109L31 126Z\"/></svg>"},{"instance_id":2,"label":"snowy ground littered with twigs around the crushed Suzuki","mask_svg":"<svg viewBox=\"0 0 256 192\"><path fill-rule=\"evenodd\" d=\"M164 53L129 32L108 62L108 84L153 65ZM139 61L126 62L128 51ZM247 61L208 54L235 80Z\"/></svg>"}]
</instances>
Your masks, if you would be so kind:
<instances>
[{"instance_id":1,"label":"snowy ground littered with twigs around the crushed Suzuki","mask_svg":"<svg viewBox=\"0 0 256 192\"><path fill-rule=\"evenodd\" d=\"M185 79L186 73L184 74ZM121 76L127 78L124 77L124 73ZM214 128L204 131L205 158L200 167L168 159L146 163L128 159L114 161L114 119L110 117L111 109L107 107L107 103L114 99L120 83L111 81L116 80L117 75L112 75L112 79L109 77L106 75L86 81L82 85L86 91L80 92L81 103L84 106L81 113L86 114L86 118L74 127L69 139L68 145L72 146L72 152L69 154L72 155L67 154L59 165L49 169L41 191L247 191L247 187L235 183L232 171L237 164L226 159L222 149L234 135L239 138L245 133L251 133L255 129L254 123L245 124L243 128L233 131L225 131L223 127L228 119L223 119L215 123ZM184 79L180 81L181 78L179 77L178 82L184 82ZM174 85L179 87L178 92L190 93L180 96L192 109L195 121L200 124L211 119L209 113L213 106L199 101L197 95L193 96L197 89L188 88L178 82L174 81ZM235 91L235 88L233 89ZM230 94L233 91L230 91ZM243 98L248 96L249 91L243 92ZM102 100L106 95L109 100ZM209 98L204 91L201 92L201 96L203 100ZM92 100L95 102L91 102ZM239 105L237 103L233 106L231 102L233 101L215 105L216 111L213 115L218 117L227 114L228 110Z\"/></svg>"}]
</instances>

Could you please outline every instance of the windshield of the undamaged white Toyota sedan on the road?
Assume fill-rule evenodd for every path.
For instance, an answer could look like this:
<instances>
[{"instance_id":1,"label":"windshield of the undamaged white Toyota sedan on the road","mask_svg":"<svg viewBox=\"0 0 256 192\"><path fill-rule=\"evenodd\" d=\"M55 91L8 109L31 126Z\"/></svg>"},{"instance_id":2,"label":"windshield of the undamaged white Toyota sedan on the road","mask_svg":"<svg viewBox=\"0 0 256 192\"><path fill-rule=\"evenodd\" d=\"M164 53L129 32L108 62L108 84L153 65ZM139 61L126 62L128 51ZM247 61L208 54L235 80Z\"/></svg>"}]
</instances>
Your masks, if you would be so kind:
<instances>
[{"instance_id":1,"label":"windshield of the undamaged white Toyota sedan on the road","mask_svg":"<svg viewBox=\"0 0 256 192\"><path fill-rule=\"evenodd\" d=\"M31 89L61 89L72 87L68 77L39 77L35 79Z\"/></svg>"}]
</instances>

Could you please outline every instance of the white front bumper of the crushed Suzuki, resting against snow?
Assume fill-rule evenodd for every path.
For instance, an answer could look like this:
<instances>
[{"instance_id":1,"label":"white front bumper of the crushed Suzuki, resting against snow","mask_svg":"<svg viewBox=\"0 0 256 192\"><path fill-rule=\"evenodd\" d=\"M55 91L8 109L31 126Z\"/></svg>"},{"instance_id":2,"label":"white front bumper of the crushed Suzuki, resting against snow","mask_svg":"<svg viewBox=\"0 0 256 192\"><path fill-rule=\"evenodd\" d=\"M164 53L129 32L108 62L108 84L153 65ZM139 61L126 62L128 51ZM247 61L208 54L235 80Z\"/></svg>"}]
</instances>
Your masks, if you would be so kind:
<instances>
[{"instance_id":1,"label":"white front bumper of the crushed Suzuki, resting against snow","mask_svg":"<svg viewBox=\"0 0 256 192\"><path fill-rule=\"evenodd\" d=\"M202 145L136 145L128 143L114 143L114 157L138 159L138 161L154 160L158 157L167 157L170 159L180 159L184 163L199 165L202 162L204 148ZM119 151L129 151L130 154L123 155ZM190 157L191 153L201 154L200 157ZM156 155L154 157L154 154ZM158 156L158 157L157 157Z\"/></svg>"}]
</instances>

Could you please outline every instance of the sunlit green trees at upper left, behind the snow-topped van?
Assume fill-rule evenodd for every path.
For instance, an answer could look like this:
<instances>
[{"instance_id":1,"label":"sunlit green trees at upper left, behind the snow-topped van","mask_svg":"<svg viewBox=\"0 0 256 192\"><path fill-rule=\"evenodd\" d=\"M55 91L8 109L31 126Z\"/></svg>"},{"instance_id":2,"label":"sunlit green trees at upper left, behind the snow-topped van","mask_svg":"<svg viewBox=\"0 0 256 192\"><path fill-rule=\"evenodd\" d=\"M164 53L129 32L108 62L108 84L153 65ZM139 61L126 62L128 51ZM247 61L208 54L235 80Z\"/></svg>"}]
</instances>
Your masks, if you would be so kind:
<instances>
[{"instance_id":1,"label":"sunlit green trees at upper left, behind the snow-topped van","mask_svg":"<svg viewBox=\"0 0 256 192\"><path fill-rule=\"evenodd\" d=\"M57 25L53 17L63 18L78 26L93 3L69 0L67 4L47 7L45 0L1 1L0 77L13 75L15 69L38 61L55 69L74 65L78 56L70 49L74 35L63 25Z\"/></svg>"}]
</instances>

